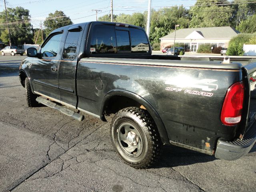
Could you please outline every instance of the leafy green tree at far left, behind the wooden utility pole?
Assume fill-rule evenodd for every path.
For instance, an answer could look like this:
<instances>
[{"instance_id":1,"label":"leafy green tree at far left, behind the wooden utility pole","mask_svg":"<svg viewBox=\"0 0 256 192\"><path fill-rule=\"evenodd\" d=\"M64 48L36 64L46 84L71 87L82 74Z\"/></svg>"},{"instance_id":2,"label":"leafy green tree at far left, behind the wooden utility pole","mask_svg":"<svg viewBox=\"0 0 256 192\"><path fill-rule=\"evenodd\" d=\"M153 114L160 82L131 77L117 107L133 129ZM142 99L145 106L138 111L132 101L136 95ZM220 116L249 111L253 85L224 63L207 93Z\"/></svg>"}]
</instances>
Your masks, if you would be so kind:
<instances>
[{"instance_id":1,"label":"leafy green tree at far left, behind the wooden utility pole","mask_svg":"<svg viewBox=\"0 0 256 192\"><path fill-rule=\"evenodd\" d=\"M33 42L32 25L30 23L29 10L22 7L7 8L11 43L20 45ZM9 44L5 11L0 12L0 39Z\"/></svg>"}]
</instances>

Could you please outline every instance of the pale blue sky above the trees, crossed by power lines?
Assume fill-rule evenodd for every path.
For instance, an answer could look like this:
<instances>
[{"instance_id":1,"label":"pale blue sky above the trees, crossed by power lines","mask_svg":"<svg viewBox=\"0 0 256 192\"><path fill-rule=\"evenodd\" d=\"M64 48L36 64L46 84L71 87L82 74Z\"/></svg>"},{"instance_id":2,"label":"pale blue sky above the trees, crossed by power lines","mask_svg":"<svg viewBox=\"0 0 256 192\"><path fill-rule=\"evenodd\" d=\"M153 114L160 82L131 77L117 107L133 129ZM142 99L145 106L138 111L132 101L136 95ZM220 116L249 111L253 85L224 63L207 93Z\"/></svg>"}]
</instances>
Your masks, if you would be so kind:
<instances>
[{"instance_id":1,"label":"pale blue sky above the trees, crossed by power lines","mask_svg":"<svg viewBox=\"0 0 256 192\"><path fill-rule=\"evenodd\" d=\"M151 0L152 8L158 10L165 6L185 5L192 6L196 0ZM104 14L110 14L110 0L6 0L6 6L15 8L21 6L30 11L31 23L39 28L49 13L62 10L74 24L96 20ZM0 10L4 10L4 2L0 1ZM132 14L148 10L148 0L113 0L114 14Z\"/></svg>"}]
</instances>

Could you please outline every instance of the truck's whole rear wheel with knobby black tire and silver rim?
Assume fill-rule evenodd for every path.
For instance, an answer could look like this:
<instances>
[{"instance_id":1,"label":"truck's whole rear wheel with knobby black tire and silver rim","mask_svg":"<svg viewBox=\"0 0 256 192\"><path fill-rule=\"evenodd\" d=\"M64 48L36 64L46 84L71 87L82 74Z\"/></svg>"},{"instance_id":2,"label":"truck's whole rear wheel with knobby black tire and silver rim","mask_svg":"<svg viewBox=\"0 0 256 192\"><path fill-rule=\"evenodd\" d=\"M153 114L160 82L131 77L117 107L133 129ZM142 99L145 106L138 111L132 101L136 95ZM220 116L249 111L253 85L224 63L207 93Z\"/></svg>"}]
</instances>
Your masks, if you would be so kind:
<instances>
[{"instance_id":1,"label":"truck's whole rear wheel with knobby black tire and silver rim","mask_svg":"<svg viewBox=\"0 0 256 192\"><path fill-rule=\"evenodd\" d=\"M119 156L133 168L148 168L159 157L160 136L147 110L128 107L118 111L112 119L110 136Z\"/></svg>"}]
</instances>

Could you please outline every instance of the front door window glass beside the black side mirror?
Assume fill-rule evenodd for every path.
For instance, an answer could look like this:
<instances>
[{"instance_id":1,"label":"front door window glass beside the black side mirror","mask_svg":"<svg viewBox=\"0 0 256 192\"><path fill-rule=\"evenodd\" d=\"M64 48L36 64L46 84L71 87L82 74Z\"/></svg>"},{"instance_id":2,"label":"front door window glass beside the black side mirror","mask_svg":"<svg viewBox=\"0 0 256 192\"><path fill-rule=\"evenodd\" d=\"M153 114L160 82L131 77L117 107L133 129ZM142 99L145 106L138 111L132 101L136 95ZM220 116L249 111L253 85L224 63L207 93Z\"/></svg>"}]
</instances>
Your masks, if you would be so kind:
<instances>
[{"instance_id":1,"label":"front door window glass beside the black side mirror","mask_svg":"<svg viewBox=\"0 0 256 192\"><path fill-rule=\"evenodd\" d=\"M62 34L56 34L52 36L46 44L41 48L41 54L43 57L56 57L59 51L60 40Z\"/></svg>"}]
</instances>

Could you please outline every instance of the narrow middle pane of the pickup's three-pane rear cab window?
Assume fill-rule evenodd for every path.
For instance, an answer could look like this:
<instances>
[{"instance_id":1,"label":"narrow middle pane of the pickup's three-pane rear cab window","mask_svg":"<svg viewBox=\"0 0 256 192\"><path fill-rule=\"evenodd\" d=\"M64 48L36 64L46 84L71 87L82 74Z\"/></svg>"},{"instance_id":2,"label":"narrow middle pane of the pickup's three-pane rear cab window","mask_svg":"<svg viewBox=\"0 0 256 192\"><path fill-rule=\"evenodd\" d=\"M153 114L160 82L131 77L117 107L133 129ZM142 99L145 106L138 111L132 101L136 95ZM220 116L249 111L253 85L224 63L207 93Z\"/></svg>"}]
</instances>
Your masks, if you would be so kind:
<instances>
[{"instance_id":1,"label":"narrow middle pane of the pickup's three-pane rear cab window","mask_svg":"<svg viewBox=\"0 0 256 192\"><path fill-rule=\"evenodd\" d=\"M128 31L116 30L117 51L130 51L130 38Z\"/></svg>"}]
</instances>

